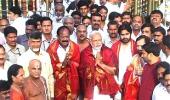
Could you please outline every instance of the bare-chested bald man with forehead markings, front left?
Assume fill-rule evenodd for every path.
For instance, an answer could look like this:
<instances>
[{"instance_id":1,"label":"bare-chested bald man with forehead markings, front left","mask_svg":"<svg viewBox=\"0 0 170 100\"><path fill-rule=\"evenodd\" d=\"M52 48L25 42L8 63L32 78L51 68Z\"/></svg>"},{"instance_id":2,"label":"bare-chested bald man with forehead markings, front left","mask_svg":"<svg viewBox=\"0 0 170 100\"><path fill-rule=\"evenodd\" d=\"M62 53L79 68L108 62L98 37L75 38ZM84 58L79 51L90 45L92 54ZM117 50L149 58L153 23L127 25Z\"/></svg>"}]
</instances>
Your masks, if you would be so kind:
<instances>
[{"instance_id":1,"label":"bare-chested bald man with forehead markings, front left","mask_svg":"<svg viewBox=\"0 0 170 100\"><path fill-rule=\"evenodd\" d=\"M41 62L33 59L29 62L29 76L24 82L26 100L47 100L45 79L41 76Z\"/></svg>"}]
</instances>

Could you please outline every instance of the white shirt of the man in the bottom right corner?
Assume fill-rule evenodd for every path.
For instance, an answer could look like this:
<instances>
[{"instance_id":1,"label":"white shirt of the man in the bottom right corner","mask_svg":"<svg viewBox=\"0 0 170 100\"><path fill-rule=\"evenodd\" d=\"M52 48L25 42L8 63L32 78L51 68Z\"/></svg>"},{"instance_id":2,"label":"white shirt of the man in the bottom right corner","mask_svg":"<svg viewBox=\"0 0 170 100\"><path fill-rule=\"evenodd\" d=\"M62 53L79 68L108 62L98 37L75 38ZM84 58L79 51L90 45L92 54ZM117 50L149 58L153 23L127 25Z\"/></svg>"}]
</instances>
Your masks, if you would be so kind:
<instances>
[{"instance_id":1,"label":"white shirt of the man in the bottom right corner","mask_svg":"<svg viewBox=\"0 0 170 100\"><path fill-rule=\"evenodd\" d=\"M170 93L168 93L165 86L159 83L153 91L152 100L169 100L169 99Z\"/></svg>"}]
</instances>

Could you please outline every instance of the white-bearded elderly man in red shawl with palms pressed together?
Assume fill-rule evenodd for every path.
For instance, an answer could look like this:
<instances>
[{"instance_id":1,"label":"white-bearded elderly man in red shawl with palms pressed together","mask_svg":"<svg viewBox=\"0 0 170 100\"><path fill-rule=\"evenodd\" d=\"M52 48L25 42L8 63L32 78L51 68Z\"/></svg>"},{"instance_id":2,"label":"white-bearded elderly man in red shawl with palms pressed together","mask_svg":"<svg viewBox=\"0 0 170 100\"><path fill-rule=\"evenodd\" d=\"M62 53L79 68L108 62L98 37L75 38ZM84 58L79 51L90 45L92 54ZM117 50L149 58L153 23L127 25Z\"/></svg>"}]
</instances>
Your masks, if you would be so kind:
<instances>
[{"instance_id":1,"label":"white-bearded elderly man in red shawl with palms pressed together","mask_svg":"<svg viewBox=\"0 0 170 100\"><path fill-rule=\"evenodd\" d=\"M116 61L112 50L102 44L98 31L80 55L79 74L84 100L113 100L119 87L114 79Z\"/></svg>"}]
</instances>

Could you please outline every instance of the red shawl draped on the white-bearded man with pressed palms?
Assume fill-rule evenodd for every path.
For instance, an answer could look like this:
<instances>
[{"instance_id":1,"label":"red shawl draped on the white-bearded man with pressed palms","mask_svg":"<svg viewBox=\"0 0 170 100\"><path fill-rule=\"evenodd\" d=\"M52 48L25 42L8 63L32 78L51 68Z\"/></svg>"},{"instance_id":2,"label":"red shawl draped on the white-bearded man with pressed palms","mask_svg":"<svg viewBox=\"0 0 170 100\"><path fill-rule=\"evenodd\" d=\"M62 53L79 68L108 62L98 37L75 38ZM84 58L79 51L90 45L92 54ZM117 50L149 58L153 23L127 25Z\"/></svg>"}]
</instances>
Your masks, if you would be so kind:
<instances>
[{"instance_id":1,"label":"red shawl draped on the white-bearded man with pressed palms","mask_svg":"<svg viewBox=\"0 0 170 100\"><path fill-rule=\"evenodd\" d=\"M111 67L115 67L115 56L111 49L106 46L101 48L102 62ZM80 78L83 80L83 90L85 98L93 98L94 86L97 85L100 94L107 94L114 97L119 90L114 76L107 73L99 66L95 66L95 58L92 54L92 47L88 46L81 52L81 61L79 67ZM101 77L98 77L97 74Z\"/></svg>"}]
</instances>

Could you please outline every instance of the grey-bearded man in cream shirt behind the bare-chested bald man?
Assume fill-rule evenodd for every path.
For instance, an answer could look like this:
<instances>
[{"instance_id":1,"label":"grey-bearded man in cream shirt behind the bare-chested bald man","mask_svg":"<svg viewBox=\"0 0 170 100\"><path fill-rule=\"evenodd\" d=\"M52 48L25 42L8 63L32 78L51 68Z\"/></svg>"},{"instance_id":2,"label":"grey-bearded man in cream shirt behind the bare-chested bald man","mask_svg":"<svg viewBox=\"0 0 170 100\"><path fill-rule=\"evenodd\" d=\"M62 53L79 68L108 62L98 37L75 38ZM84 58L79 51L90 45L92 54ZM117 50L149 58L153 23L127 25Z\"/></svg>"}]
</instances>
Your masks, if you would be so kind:
<instances>
[{"instance_id":1,"label":"grey-bearded man in cream shirt behind the bare-chested bald man","mask_svg":"<svg viewBox=\"0 0 170 100\"><path fill-rule=\"evenodd\" d=\"M28 40L29 49L23 53L17 60L17 64L23 66L25 77L29 75L28 66L32 59L38 59L42 63L41 75L45 78L48 88L48 96L54 97L54 77L51 59L47 52L40 49L42 34L35 32L30 35ZM51 98L49 98L51 100Z\"/></svg>"}]
</instances>

